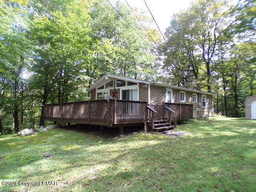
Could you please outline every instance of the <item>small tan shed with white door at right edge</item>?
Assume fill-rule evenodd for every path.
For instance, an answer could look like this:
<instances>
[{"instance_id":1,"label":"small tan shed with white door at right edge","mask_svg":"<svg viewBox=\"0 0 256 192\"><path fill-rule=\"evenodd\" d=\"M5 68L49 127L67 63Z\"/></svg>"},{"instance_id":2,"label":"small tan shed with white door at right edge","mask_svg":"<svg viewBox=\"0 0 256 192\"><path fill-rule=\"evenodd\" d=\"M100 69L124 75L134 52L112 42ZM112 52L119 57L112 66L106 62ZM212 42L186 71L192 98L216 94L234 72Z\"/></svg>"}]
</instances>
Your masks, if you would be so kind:
<instances>
[{"instance_id":1,"label":"small tan shed with white door at right edge","mask_svg":"<svg viewBox=\"0 0 256 192\"><path fill-rule=\"evenodd\" d=\"M256 120L256 95L248 97L244 104L245 118L247 120Z\"/></svg>"}]
</instances>

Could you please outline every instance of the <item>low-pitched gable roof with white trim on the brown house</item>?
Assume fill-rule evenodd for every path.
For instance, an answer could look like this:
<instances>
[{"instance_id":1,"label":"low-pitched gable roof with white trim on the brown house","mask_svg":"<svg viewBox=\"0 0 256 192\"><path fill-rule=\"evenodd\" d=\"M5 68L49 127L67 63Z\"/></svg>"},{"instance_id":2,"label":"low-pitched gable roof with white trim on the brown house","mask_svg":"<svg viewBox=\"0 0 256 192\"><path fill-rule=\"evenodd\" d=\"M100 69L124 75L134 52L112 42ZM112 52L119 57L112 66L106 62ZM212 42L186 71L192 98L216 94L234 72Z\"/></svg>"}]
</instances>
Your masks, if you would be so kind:
<instances>
[{"instance_id":1,"label":"low-pitched gable roof with white trim on the brown house","mask_svg":"<svg viewBox=\"0 0 256 192\"><path fill-rule=\"evenodd\" d=\"M195 90L195 89L188 89L188 88L183 88L183 87L178 87L178 86L173 86L173 85L168 85L168 84L162 84L162 83L157 83L157 82L150 82L150 81L146 81L146 80L140 80L140 79L134 79L134 78L129 78L129 77L117 76L117 75L112 75L112 74L105 74L104 76L102 76L92 86L90 86L87 89L87 91L91 91L94 88L97 88L97 87L105 84L108 81L115 80L116 78L120 79L120 80L140 82L140 83L145 83L145 84L150 84L150 85L162 86L162 87L166 87L166 88L174 88L174 89L178 89L178 90L184 90L184 91L191 91L191 92L196 92L196 93L214 95L214 93L209 93L209 92L205 92L205 91L198 91L198 90Z\"/></svg>"}]
</instances>

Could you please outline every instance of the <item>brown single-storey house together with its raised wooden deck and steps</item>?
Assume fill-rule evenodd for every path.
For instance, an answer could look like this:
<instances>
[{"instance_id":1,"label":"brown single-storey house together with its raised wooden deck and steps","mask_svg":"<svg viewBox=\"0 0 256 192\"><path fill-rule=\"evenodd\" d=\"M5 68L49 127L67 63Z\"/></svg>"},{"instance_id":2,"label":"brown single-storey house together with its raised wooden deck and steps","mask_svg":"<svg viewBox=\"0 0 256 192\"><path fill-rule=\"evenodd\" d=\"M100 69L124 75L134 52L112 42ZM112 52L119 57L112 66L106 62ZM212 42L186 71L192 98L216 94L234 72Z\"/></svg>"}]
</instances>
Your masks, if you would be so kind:
<instances>
[{"instance_id":1,"label":"brown single-storey house together with its raised wooden deck and steps","mask_svg":"<svg viewBox=\"0 0 256 192\"><path fill-rule=\"evenodd\" d=\"M44 105L44 119L119 127L146 124L148 131L173 128L172 120L212 118L213 94L106 74L90 88L90 100Z\"/></svg>"}]
</instances>

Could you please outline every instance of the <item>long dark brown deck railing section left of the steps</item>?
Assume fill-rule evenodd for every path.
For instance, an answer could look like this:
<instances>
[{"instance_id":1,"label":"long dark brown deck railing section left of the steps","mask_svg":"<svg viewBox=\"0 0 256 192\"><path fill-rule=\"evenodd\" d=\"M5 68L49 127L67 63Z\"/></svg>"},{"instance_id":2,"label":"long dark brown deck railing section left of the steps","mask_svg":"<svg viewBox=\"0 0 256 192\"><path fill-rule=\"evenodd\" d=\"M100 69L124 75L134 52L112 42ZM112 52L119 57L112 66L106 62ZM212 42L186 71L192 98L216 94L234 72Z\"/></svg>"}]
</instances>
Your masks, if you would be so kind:
<instances>
[{"instance_id":1,"label":"long dark brown deck railing section left of the steps","mask_svg":"<svg viewBox=\"0 0 256 192\"><path fill-rule=\"evenodd\" d=\"M143 122L146 120L146 105L147 102L116 99L45 104L44 118L108 124Z\"/></svg>"}]
</instances>

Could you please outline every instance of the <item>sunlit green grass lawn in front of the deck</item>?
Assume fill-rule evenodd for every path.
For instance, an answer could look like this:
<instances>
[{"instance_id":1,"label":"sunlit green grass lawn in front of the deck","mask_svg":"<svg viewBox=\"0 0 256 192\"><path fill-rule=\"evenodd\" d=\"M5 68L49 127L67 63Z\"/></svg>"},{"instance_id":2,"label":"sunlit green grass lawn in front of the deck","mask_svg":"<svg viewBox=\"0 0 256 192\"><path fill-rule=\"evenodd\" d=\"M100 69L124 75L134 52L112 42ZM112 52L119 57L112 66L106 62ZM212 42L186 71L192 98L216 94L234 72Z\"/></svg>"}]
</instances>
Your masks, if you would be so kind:
<instances>
[{"instance_id":1,"label":"sunlit green grass lawn in front of the deck","mask_svg":"<svg viewBox=\"0 0 256 192\"><path fill-rule=\"evenodd\" d=\"M132 134L104 139L55 129L0 136L0 181L56 181L0 191L256 191L256 122L194 120L189 136ZM44 153L52 157L44 157Z\"/></svg>"}]
</instances>

